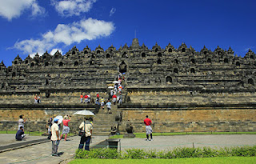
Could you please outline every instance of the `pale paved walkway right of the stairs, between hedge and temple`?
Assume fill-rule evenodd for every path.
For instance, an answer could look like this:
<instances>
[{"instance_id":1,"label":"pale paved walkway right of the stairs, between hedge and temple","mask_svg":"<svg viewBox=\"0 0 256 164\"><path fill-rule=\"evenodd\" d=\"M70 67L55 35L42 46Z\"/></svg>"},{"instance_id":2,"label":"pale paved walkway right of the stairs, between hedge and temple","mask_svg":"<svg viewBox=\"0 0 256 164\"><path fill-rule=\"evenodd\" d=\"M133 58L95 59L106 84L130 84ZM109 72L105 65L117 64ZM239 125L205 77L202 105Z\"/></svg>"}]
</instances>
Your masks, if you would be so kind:
<instances>
[{"instance_id":1,"label":"pale paved walkway right of the stairs, between hedge and temple","mask_svg":"<svg viewBox=\"0 0 256 164\"><path fill-rule=\"evenodd\" d=\"M175 147L193 147L193 144L194 147L207 146L212 148L256 146L256 134L193 134L154 137L153 133L153 140L154 141L146 141L146 138L121 139L121 150L130 148L138 148L144 150L171 150Z\"/></svg>"}]
</instances>

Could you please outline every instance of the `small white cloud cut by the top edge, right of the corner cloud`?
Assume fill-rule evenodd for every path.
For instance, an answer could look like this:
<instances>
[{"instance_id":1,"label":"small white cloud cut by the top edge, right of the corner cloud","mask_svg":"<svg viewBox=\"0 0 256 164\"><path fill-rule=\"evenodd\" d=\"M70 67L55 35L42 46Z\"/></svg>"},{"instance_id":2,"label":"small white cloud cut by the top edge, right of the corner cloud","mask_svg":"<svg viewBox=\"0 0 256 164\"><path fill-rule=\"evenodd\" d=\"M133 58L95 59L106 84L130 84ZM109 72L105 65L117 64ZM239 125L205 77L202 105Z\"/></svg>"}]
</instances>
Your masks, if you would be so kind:
<instances>
[{"instance_id":1,"label":"small white cloud cut by the top edge, right of the corner cloud","mask_svg":"<svg viewBox=\"0 0 256 164\"><path fill-rule=\"evenodd\" d=\"M96 1L97 0L51 0L51 5L55 7L58 14L71 17L88 12Z\"/></svg>"}]
</instances>

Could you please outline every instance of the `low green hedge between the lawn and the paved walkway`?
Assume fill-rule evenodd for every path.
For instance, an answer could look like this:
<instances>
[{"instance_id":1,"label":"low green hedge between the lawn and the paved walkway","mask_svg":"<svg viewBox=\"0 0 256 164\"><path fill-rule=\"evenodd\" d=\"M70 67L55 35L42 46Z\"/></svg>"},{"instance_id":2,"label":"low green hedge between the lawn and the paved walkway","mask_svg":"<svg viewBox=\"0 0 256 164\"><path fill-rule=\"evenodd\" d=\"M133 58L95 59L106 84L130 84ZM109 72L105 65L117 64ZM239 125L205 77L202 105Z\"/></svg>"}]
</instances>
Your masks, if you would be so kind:
<instances>
[{"instance_id":1,"label":"low green hedge between the lawn and the paved walkway","mask_svg":"<svg viewBox=\"0 0 256 164\"><path fill-rule=\"evenodd\" d=\"M210 157L254 157L256 146L225 147L219 150L210 147L189 148L178 147L174 150L142 150L128 149L118 152L116 149L77 150L75 158L210 158Z\"/></svg>"}]
</instances>

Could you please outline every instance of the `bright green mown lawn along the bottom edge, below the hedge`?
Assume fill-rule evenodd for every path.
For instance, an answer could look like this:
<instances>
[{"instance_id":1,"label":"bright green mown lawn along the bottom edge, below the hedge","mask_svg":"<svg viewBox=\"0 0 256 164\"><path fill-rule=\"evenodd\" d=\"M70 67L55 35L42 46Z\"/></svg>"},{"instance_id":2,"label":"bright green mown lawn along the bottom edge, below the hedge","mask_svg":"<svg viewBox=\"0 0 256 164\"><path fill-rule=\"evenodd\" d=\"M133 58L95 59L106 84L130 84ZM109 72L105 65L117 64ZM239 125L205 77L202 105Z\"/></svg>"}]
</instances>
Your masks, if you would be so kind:
<instances>
[{"instance_id":1,"label":"bright green mown lawn along the bottom edge, below the hedge","mask_svg":"<svg viewBox=\"0 0 256 164\"><path fill-rule=\"evenodd\" d=\"M130 164L163 164L163 163L193 163L193 164L245 164L256 163L256 157L218 157L218 158L176 158L176 159L75 159L69 162L69 164L83 164L83 163L130 163Z\"/></svg>"}]
</instances>

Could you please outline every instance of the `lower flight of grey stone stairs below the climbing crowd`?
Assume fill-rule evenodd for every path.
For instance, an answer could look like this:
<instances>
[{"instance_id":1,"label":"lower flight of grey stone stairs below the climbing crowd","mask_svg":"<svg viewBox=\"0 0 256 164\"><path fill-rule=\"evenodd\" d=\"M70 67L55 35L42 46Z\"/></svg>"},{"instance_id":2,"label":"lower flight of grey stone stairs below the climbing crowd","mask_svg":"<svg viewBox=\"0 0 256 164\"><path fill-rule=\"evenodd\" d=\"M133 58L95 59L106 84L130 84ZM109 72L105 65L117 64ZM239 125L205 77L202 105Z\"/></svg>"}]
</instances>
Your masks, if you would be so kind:
<instances>
[{"instance_id":1,"label":"lower flight of grey stone stairs below the climbing crowd","mask_svg":"<svg viewBox=\"0 0 256 164\"><path fill-rule=\"evenodd\" d=\"M118 105L111 105L112 114L107 113L107 108L100 109L94 117L93 135L110 135L111 126L116 123L115 116L118 114Z\"/></svg>"}]
</instances>

